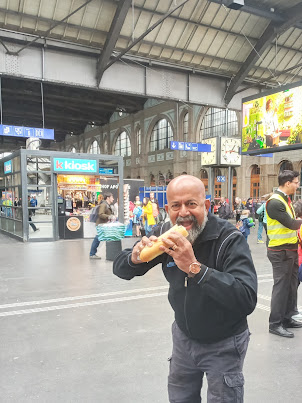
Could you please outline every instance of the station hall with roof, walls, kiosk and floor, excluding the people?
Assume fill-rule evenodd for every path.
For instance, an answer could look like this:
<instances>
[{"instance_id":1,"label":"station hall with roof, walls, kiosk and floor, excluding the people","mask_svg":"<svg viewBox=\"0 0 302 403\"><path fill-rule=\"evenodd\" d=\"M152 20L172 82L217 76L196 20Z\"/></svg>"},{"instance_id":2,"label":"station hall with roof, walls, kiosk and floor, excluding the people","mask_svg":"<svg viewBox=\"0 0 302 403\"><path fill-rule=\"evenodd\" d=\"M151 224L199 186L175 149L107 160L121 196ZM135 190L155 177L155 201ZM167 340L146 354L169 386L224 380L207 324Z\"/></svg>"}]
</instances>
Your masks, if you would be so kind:
<instances>
[{"instance_id":1,"label":"station hall with roof, walls, kiosk and floor, excluding the people","mask_svg":"<svg viewBox=\"0 0 302 403\"><path fill-rule=\"evenodd\" d=\"M111 192L132 248L131 203L153 192L168 221L180 175L216 216L301 181L302 1L0 1L0 118L0 400L168 402L169 285L160 266L113 276L106 242L89 259L92 209ZM244 401L298 403L302 330L268 333L258 241Z\"/></svg>"}]
</instances>

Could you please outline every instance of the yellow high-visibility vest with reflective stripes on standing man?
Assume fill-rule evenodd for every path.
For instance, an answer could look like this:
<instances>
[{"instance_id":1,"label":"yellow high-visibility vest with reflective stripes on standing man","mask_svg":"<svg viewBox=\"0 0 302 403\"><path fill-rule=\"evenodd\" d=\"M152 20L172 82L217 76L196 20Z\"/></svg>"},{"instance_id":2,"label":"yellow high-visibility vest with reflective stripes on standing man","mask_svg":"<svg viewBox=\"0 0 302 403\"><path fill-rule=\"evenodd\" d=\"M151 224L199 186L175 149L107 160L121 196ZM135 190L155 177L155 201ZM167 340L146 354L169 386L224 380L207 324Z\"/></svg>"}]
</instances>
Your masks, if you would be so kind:
<instances>
[{"instance_id":1,"label":"yellow high-visibility vest with reflective stripes on standing man","mask_svg":"<svg viewBox=\"0 0 302 403\"><path fill-rule=\"evenodd\" d=\"M267 201L277 199L284 204L286 212L291 218L295 219L295 212L292 206L286 203L282 196L274 193ZM269 237L268 247L281 246L284 244L296 244L298 242L297 231L284 227L279 221L272 219L268 212L267 215L267 235Z\"/></svg>"}]
</instances>

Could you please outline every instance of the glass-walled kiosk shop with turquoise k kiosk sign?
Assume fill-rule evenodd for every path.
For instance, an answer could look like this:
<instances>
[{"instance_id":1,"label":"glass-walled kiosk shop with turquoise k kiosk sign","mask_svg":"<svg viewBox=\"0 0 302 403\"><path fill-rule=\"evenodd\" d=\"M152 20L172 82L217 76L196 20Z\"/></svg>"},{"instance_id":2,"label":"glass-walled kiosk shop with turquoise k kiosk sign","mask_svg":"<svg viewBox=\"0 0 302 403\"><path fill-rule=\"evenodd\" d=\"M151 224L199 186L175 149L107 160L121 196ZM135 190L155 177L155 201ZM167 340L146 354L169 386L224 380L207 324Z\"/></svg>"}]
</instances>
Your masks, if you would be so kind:
<instances>
[{"instance_id":1,"label":"glass-walled kiosk shop with turquoise k kiosk sign","mask_svg":"<svg viewBox=\"0 0 302 403\"><path fill-rule=\"evenodd\" d=\"M19 150L0 160L0 173L0 231L23 241L94 237L91 207L104 191L124 197L115 155ZM122 202L118 215L124 222Z\"/></svg>"}]
</instances>

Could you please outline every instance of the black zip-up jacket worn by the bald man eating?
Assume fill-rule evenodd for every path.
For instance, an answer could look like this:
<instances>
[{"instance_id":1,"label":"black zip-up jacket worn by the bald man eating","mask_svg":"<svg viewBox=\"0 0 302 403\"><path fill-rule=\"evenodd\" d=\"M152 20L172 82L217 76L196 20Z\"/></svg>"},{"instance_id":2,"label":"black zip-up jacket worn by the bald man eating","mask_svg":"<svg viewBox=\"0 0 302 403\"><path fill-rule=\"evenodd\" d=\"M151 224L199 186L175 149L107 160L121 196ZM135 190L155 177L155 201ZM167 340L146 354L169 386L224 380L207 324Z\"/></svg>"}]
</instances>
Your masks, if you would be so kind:
<instances>
[{"instance_id":1,"label":"black zip-up jacket worn by the bald man eating","mask_svg":"<svg viewBox=\"0 0 302 403\"><path fill-rule=\"evenodd\" d=\"M187 278L167 254L135 265L131 262L132 249L125 249L113 263L114 274L126 280L142 276L162 263L170 283L168 298L175 320L188 337L202 343L214 343L243 332L247 328L246 316L257 302L257 276L245 238L228 221L211 213L208 218L193 245L197 260L205 265L202 273L208 267L203 279ZM164 224L163 232L169 226L170 223ZM159 229L154 234L158 236Z\"/></svg>"}]
</instances>

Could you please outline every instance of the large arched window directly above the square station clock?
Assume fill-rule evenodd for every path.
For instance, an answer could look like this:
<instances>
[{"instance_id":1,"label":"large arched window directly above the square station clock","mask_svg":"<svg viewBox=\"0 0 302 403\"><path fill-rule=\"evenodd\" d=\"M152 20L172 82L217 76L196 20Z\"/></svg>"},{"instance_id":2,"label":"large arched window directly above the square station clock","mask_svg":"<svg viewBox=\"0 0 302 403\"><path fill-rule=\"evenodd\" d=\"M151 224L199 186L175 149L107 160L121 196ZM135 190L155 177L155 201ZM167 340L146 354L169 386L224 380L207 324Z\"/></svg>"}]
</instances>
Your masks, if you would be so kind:
<instances>
[{"instance_id":1,"label":"large arched window directly above the square station clock","mask_svg":"<svg viewBox=\"0 0 302 403\"><path fill-rule=\"evenodd\" d=\"M203 119L199 138L231 137L238 135L238 121L235 111L209 108Z\"/></svg>"}]
</instances>

